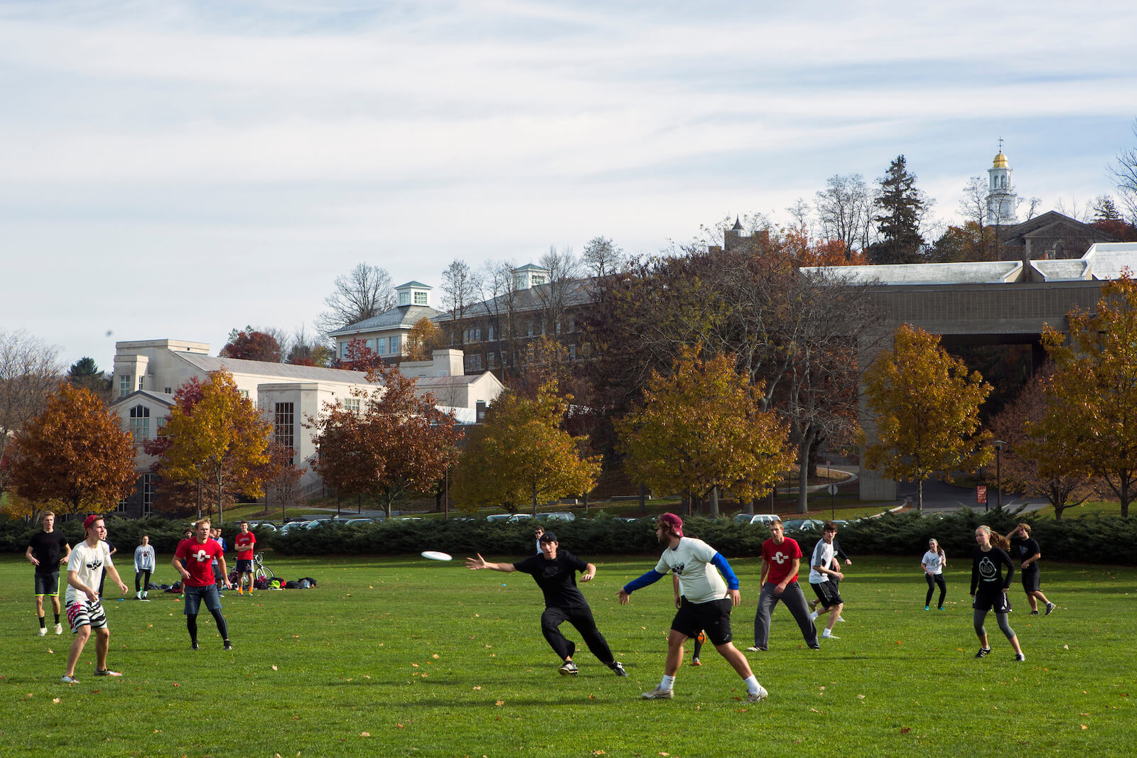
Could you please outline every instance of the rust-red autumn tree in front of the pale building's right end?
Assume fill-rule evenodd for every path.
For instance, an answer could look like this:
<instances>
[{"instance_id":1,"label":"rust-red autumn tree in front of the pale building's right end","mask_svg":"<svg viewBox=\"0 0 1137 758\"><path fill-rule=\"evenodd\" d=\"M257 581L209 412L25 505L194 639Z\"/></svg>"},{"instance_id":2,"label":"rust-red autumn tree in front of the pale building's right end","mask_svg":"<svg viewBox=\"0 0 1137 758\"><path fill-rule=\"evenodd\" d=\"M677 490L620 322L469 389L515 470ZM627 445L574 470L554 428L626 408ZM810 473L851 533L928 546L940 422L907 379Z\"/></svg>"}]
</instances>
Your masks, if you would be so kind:
<instances>
[{"instance_id":1,"label":"rust-red autumn tree in front of the pale building's right end","mask_svg":"<svg viewBox=\"0 0 1137 758\"><path fill-rule=\"evenodd\" d=\"M397 367L374 366L367 380L374 386L352 390L358 410L325 403L306 423L319 451L312 467L340 495L371 495L390 516L398 498L434 489L462 435L454 415Z\"/></svg>"}]
</instances>

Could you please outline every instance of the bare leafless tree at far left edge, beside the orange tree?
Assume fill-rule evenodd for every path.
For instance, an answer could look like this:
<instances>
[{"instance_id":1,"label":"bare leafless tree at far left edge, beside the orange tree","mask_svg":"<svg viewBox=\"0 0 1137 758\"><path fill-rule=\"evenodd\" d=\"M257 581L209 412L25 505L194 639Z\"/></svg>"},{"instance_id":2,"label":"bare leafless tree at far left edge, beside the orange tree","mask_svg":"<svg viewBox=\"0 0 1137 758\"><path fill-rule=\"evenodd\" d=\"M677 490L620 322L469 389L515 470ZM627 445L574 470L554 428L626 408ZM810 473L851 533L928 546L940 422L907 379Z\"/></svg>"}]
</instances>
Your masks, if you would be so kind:
<instances>
[{"instance_id":1,"label":"bare leafless tree at far left edge, beside the orange tree","mask_svg":"<svg viewBox=\"0 0 1137 758\"><path fill-rule=\"evenodd\" d=\"M13 435L43 413L61 368L53 347L24 331L0 330L0 495L8 489Z\"/></svg>"}]
</instances>

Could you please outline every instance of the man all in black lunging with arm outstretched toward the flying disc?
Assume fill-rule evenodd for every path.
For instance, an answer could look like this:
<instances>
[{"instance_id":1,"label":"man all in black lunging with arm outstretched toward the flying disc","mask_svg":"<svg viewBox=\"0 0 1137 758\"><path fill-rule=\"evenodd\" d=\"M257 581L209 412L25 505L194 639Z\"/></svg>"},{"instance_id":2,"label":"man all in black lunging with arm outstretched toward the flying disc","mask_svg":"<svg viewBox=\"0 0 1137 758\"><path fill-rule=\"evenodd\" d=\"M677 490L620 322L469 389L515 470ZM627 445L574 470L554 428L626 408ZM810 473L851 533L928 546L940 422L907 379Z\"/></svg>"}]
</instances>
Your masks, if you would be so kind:
<instances>
[{"instance_id":1,"label":"man all in black lunging with arm outstretched toward the flying disc","mask_svg":"<svg viewBox=\"0 0 1137 758\"><path fill-rule=\"evenodd\" d=\"M615 672L616 676L628 676L624 667L612 655L608 642L596 628L592 609L583 593L576 589L576 572L581 572L580 581L590 582L596 576L596 566L586 564L567 550L557 551L561 544L557 535L546 532L540 538L541 555L530 556L516 564L491 564L478 553L478 558L466 558L466 568L478 570L491 568L496 572L522 572L529 574L545 593L545 613L541 614L541 632L554 652L564 661L561 666L562 676L575 676L576 664L572 656L576 643L565 639L561 625L568 622L584 638L584 643L597 659Z\"/></svg>"}]
</instances>

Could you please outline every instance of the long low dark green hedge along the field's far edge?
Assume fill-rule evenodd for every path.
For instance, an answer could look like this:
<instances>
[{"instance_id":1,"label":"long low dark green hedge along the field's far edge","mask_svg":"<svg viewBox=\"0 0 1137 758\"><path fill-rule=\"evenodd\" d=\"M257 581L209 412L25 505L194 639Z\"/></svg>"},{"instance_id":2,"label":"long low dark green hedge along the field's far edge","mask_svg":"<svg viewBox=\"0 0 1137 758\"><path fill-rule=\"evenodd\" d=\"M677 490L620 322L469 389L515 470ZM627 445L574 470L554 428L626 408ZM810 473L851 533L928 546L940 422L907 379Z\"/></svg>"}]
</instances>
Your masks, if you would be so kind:
<instances>
[{"instance_id":1,"label":"long low dark green hedge along the field's far edge","mask_svg":"<svg viewBox=\"0 0 1137 758\"><path fill-rule=\"evenodd\" d=\"M974 530L987 524L1006 534L1018 522L1032 526L1032 535L1041 545L1046 560L1085 564L1137 565L1137 518L1087 516L1055 522L1034 520L1018 511L979 513L964 509L947 516L920 517L914 513L886 514L880 518L847 524L838 532L841 547L852 556L912 556L914 561L927 550L928 539L936 538L949 558L970 556L974 547ZM110 518L110 540L131 555L142 534L159 553L173 553L185 528L184 520L148 518L141 520ZM0 551L23 552L27 540L40 527L20 520L0 524ZM70 544L83 539L78 520L59 525ZM591 518L556 522L546 528L557 534L561 547L579 556L657 555L659 545L650 519L625 522L603 511ZM233 543L235 524L226 525L224 536ZM526 522L501 523L476 520L401 520L391 519L363 526L343 526L334 522L290 534L257 530L257 541L282 555L406 555L422 550L442 550L456 558L481 552L485 556L526 556L534 550L533 525ZM691 516L684 519L684 534L698 536L728 558L754 558L762 552L762 542L770 536L761 525L737 524L732 519ZM794 535L808 553L821 536L814 531Z\"/></svg>"}]
</instances>

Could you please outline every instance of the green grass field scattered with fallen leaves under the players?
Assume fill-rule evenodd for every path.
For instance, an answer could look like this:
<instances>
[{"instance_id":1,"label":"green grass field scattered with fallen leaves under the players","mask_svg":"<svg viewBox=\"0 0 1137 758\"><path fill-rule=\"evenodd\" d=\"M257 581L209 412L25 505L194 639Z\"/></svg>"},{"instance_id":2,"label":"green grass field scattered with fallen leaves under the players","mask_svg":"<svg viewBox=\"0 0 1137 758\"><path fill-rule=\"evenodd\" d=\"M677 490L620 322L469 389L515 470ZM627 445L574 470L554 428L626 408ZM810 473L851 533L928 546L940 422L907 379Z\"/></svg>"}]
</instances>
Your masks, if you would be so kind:
<instances>
[{"instance_id":1,"label":"green grass field scattered with fallen leaves under the players","mask_svg":"<svg viewBox=\"0 0 1137 758\"><path fill-rule=\"evenodd\" d=\"M654 559L581 552L599 566L583 591L628 678L584 650L578 677L557 674L529 576L468 572L458 560L327 558L269 561L290 578L317 578L318 589L226 592L232 652L208 614L199 617L202 649L191 651L174 595L116 601L108 586L109 663L124 676L91 675L92 642L81 683L67 686L59 676L70 635L36 636L31 567L5 556L0 753L1109 756L1137 744L1128 594L1137 569L1045 565L1043 589L1059 603L1048 617L1027 616L1015 584L1011 623L1027 653L1015 664L994 616L994 652L972 658L970 565L949 566L948 609L937 613L923 610L919 556L854 557L841 639L805 649L779 606L770 651L747 653L770 691L750 706L712 648L700 668L680 670L674 700L640 700L662 674L670 582L619 606L616 590ZM167 567L158 581L174 577L167 559L159 556ZM758 567L733 567L745 648Z\"/></svg>"}]
</instances>

